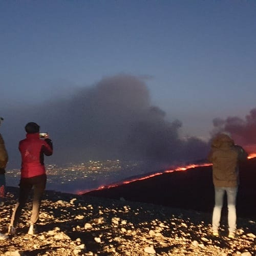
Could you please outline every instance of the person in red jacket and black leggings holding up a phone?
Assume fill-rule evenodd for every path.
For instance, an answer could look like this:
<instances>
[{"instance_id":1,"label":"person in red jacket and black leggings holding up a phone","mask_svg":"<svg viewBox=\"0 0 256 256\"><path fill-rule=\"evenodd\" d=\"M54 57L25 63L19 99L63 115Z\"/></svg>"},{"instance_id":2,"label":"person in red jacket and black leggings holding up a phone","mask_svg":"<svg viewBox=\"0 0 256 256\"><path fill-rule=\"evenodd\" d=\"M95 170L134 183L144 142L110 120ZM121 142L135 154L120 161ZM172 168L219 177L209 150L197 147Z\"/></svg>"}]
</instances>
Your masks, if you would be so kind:
<instances>
[{"instance_id":1,"label":"person in red jacket and black leggings holding up a phone","mask_svg":"<svg viewBox=\"0 0 256 256\"><path fill-rule=\"evenodd\" d=\"M29 122L25 126L26 139L19 142L19 152L22 156L22 167L20 169L19 198L13 210L9 234L16 233L16 225L22 214L22 209L28 200L29 193L33 187L33 208L28 234L35 233L35 223L39 217L41 197L46 187L46 169L44 155L51 156L53 153L52 141L48 135L40 139L39 125Z\"/></svg>"}]
</instances>

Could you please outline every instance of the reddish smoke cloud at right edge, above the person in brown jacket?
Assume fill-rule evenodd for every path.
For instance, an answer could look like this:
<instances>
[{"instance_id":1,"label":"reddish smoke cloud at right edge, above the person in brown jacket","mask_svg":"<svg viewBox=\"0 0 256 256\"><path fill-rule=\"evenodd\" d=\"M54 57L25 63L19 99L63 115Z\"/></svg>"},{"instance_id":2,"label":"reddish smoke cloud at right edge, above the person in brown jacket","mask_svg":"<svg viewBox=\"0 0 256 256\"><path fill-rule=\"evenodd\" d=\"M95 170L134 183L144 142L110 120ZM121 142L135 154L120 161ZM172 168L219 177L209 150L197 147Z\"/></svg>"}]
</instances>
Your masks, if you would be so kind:
<instances>
[{"instance_id":1,"label":"reddish smoke cloud at right edge, above the person in brown jacket","mask_svg":"<svg viewBox=\"0 0 256 256\"><path fill-rule=\"evenodd\" d=\"M234 142L242 146L256 144L256 108L252 109L244 119L230 116L226 119L215 118L212 135L218 132L228 132Z\"/></svg>"}]
</instances>

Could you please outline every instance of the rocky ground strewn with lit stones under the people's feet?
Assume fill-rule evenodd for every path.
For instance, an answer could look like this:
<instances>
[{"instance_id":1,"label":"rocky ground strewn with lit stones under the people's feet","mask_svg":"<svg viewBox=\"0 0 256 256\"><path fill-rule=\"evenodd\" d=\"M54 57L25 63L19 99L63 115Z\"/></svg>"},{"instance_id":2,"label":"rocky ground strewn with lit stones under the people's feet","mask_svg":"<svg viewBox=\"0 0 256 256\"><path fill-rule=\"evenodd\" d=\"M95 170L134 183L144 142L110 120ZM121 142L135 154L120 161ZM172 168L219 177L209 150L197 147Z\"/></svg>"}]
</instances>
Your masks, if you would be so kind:
<instances>
[{"instance_id":1,"label":"rocky ground strewn with lit stones under the people's feet","mask_svg":"<svg viewBox=\"0 0 256 256\"><path fill-rule=\"evenodd\" d=\"M18 189L7 188L0 210L6 233ZM256 254L255 220L238 219L237 236L222 225L213 237L210 215L155 204L46 191L38 232L28 235L31 201L16 236L0 240L1 255L241 255ZM223 224L226 220L223 220Z\"/></svg>"}]
</instances>

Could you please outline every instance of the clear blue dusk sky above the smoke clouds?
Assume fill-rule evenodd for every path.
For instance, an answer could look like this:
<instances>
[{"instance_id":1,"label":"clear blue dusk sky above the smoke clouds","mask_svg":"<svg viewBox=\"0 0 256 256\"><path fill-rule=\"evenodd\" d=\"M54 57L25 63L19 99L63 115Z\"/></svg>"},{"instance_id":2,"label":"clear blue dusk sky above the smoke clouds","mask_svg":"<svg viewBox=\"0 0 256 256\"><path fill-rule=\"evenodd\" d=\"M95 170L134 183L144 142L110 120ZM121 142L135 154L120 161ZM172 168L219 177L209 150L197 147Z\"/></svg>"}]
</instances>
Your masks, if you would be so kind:
<instances>
[{"instance_id":1,"label":"clear blue dusk sky above the smoke clouds","mask_svg":"<svg viewBox=\"0 0 256 256\"><path fill-rule=\"evenodd\" d=\"M15 117L24 129L29 106L49 113L48 102L124 75L182 136L209 138L214 118L256 107L255 14L253 0L1 1L1 133Z\"/></svg>"}]
</instances>

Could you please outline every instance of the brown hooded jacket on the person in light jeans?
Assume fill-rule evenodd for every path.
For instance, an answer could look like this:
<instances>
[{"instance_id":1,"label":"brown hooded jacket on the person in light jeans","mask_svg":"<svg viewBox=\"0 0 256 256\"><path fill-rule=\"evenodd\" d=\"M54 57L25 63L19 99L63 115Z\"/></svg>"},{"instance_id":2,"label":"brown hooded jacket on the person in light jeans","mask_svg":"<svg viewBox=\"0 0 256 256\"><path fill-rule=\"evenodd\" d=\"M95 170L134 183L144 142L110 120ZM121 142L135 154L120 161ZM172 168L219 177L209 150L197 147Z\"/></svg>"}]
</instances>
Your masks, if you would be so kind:
<instances>
[{"instance_id":1,"label":"brown hooded jacket on the person in light jeans","mask_svg":"<svg viewBox=\"0 0 256 256\"><path fill-rule=\"evenodd\" d=\"M236 187L239 185L240 160L247 158L241 146L234 145L226 134L218 134L211 143L208 161L212 163L212 181L217 187Z\"/></svg>"}]
</instances>

